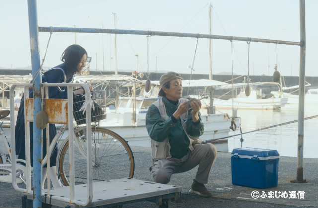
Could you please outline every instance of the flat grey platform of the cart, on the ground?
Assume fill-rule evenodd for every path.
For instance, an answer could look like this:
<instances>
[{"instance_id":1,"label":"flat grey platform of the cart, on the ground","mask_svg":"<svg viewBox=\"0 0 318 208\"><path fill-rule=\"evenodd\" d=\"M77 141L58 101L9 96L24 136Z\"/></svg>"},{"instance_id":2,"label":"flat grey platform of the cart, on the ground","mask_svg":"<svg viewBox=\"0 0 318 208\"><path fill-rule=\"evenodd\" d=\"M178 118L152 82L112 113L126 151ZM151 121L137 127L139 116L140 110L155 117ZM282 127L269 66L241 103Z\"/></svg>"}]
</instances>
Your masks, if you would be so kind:
<instances>
[{"instance_id":1,"label":"flat grey platform of the cart, on the ground","mask_svg":"<svg viewBox=\"0 0 318 208\"><path fill-rule=\"evenodd\" d=\"M87 200L87 184L75 185L74 190L75 200ZM42 191L42 202L64 208L108 208L139 201L152 201L160 206L162 201L167 199L180 202L181 191L180 186L122 178L93 183L93 200L86 207L51 199L49 195L46 195L46 190ZM33 199L32 194L23 193L23 195L27 197L27 201ZM51 195L70 199L70 188L65 186L51 189ZM25 207L28 206L25 205Z\"/></svg>"}]
</instances>

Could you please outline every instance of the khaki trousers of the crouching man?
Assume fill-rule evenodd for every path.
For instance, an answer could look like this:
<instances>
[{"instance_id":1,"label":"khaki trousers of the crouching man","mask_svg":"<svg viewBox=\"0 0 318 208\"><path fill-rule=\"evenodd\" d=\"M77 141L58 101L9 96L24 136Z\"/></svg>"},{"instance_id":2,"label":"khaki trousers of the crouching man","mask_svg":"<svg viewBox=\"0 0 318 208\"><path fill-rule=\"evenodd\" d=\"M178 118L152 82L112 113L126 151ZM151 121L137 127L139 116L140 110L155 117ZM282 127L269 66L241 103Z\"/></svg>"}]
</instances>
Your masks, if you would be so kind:
<instances>
[{"instance_id":1,"label":"khaki trousers of the crouching man","mask_svg":"<svg viewBox=\"0 0 318 208\"><path fill-rule=\"evenodd\" d=\"M181 159L154 159L153 165L149 170L151 171L153 182L167 184L172 174L183 173L199 165L195 180L206 184L216 157L217 149L213 144L199 144L195 145L194 149L192 151L189 150Z\"/></svg>"}]
</instances>

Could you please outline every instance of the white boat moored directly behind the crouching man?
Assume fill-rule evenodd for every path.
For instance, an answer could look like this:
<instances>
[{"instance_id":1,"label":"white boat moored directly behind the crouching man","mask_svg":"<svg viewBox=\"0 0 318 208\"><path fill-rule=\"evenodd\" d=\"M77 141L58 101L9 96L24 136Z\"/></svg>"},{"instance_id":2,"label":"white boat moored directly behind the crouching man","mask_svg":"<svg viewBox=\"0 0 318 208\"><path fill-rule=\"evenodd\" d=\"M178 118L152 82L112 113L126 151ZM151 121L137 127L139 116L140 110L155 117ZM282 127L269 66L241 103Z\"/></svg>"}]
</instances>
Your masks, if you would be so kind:
<instances>
[{"instance_id":1,"label":"white boat moored directly behind the crouching man","mask_svg":"<svg viewBox=\"0 0 318 208\"><path fill-rule=\"evenodd\" d=\"M100 126L110 129L126 141L130 146L150 147L150 137L146 130L146 112L149 106L158 100L158 97L136 97L136 111L133 108L134 97L120 98L117 109L107 111L107 118L100 122ZM107 109L108 110L108 109ZM133 121L136 112L136 121ZM227 137L231 118L227 113L207 114L202 111L201 119L204 124L204 134L200 136L202 141ZM240 128L240 118L236 118L237 129ZM213 143L227 142L227 138L217 140Z\"/></svg>"}]
</instances>

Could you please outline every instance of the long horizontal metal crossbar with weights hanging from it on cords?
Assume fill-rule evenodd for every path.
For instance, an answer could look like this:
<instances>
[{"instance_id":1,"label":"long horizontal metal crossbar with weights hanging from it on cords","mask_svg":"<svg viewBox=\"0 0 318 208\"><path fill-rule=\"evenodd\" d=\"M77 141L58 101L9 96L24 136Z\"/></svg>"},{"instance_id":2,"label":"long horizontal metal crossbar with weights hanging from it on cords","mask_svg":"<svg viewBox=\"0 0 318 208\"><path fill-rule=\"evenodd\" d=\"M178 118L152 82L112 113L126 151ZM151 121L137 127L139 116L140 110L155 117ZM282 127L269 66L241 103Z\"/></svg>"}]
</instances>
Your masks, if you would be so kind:
<instances>
[{"instance_id":1,"label":"long horizontal metal crossbar with weights hanging from it on cords","mask_svg":"<svg viewBox=\"0 0 318 208\"><path fill-rule=\"evenodd\" d=\"M175 36L188 38L208 38L208 39L222 39L222 40L239 40L252 41L261 43L278 43L285 45L301 46L301 42L291 42L282 40L269 40L261 38L235 37L225 35L208 35L198 33L180 33L180 32L158 32L146 30L118 30L118 29L94 29L94 28L74 28L74 27L39 27L39 32L77 32L77 33L111 33L111 34L126 34L126 35L149 35L149 36Z\"/></svg>"}]
</instances>

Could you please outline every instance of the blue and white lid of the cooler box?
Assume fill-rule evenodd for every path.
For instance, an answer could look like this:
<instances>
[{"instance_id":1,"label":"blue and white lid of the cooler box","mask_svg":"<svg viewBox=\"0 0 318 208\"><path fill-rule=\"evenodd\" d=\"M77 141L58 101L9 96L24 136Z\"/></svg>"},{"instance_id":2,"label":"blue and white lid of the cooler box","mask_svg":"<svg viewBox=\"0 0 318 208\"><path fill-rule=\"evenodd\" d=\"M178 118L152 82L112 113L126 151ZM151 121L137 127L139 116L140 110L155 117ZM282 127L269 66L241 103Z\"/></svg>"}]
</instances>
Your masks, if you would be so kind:
<instances>
[{"instance_id":1,"label":"blue and white lid of the cooler box","mask_svg":"<svg viewBox=\"0 0 318 208\"><path fill-rule=\"evenodd\" d=\"M271 149L257 149L257 148L238 148L233 149L231 156L240 156L241 158L262 157L263 159L277 159L279 153L277 150Z\"/></svg>"}]
</instances>

